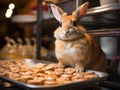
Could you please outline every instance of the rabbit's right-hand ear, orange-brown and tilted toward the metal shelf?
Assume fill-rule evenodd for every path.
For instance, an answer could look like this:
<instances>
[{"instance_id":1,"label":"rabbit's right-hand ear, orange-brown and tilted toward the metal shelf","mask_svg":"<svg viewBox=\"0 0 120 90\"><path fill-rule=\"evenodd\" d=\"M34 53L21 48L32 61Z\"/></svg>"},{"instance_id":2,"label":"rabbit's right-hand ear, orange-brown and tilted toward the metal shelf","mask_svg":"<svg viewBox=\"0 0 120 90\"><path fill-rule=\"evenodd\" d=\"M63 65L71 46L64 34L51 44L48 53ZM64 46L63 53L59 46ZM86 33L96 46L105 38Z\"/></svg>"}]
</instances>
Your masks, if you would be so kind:
<instances>
[{"instance_id":1,"label":"rabbit's right-hand ear, orange-brown and tilted toward the metal shelf","mask_svg":"<svg viewBox=\"0 0 120 90\"><path fill-rule=\"evenodd\" d=\"M75 15L78 19L81 19L87 12L89 2L86 2L82 4L80 7L76 9L76 11L73 12L73 15Z\"/></svg>"}]
</instances>

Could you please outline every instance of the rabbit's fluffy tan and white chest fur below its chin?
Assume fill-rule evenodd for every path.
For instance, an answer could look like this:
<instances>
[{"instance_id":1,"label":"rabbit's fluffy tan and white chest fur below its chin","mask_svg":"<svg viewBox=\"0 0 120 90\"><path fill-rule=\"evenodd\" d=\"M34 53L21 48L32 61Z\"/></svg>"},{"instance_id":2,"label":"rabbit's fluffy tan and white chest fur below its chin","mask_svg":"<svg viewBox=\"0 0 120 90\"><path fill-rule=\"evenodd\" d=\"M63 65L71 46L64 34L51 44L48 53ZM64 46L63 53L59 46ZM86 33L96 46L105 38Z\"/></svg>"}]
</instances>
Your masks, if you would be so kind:
<instances>
[{"instance_id":1,"label":"rabbit's fluffy tan and white chest fur below its chin","mask_svg":"<svg viewBox=\"0 0 120 90\"><path fill-rule=\"evenodd\" d=\"M75 67L76 63L81 62L87 63L89 60L89 46L86 40L75 40L75 41L62 41L56 40L55 42L56 56L61 60L65 66Z\"/></svg>"}]
</instances>

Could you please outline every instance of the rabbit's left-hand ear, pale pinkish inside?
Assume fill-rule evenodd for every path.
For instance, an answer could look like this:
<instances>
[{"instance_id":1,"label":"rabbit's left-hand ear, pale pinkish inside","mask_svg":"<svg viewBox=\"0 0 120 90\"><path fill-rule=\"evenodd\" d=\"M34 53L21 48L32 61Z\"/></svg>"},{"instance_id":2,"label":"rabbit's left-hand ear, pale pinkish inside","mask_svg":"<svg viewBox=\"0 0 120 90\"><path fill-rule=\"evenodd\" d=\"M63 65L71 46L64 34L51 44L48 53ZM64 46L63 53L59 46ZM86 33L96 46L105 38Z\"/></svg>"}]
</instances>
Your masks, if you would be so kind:
<instances>
[{"instance_id":1,"label":"rabbit's left-hand ear, pale pinkish inside","mask_svg":"<svg viewBox=\"0 0 120 90\"><path fill-rule=\"evenodd\" d=\"M54 17L60 22L61 21L61 17L63 15L67 15L61 8L59 8L58 6L56 6L55 4L51 4L51 10L52 13L54 15Z\"/></svg>"}]
</instances>

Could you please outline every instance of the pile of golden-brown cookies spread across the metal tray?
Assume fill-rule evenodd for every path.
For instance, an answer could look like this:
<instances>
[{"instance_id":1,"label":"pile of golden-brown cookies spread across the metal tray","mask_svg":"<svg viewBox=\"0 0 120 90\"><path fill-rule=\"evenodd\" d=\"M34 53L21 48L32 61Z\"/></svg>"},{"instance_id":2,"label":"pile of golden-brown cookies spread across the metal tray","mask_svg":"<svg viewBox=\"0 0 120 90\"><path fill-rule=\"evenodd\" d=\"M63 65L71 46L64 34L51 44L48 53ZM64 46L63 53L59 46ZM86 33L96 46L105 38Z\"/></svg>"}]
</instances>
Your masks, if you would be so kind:
<instances>
[{"instance_id":1,"label":"pile of golden-brown cookies spread across the metal tray","mask_svg":"<svg viewBox=\"0 0 120 90\"><path fill-rule=\"evenodd\" d=\"M74 68L57 68L57 64L29 66L23 60L0 61L0 75L33 85L59 85L99 78L95 72L76 72Z\"/></svg>"}]
</instances>

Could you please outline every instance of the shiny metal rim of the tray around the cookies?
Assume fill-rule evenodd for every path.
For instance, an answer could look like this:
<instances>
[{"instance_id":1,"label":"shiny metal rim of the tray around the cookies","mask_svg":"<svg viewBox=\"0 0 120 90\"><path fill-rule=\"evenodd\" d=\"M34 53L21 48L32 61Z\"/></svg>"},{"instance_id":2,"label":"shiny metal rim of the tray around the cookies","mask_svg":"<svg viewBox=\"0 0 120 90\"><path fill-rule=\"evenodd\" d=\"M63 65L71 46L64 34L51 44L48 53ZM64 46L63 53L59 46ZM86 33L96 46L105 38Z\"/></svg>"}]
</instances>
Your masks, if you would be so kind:
<instances>
[{"instance_id":1,"label":"shiny metal rim of the tray around the cookies","mask_svg":"<svg viewBox=\"0 0 120 90\"><path fill-rule=\"evenodd\" d=\"M31 59L25 59L25 60L31 60ZM38 60L33 60L33 61L35 62ZM43 60L39 60L39 63L40 63L40 61L43 61ZM43 61L43 62L53 63L50 61ZM27 83L23 83L20 81L12 80L12 79L7 78L5 76L0 76L0 79L3 81L9 82L11 84L14 84L18 87L22 86L23 88L27 88L27 89L53 89L53 88L60 88L60 87L62 88L62 87L66 87L66 86L72 87L72 86L75 86L77 84L79 84L79 86L87 85L87 84L88 85L99 84L100 82L105 81L109 77L108 73L106 73L106 72L100 72L100 71L95 71L95 70L87 70L87 71L95 72L96 74L99 75L99 78L85 80L85 81L70 82L70 83L60 84L60 85L32 85L32 84L27 84ZM102 74L102 76L100 76L100 74Z\"/></svg>"}]
</instances>

